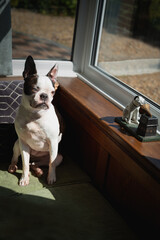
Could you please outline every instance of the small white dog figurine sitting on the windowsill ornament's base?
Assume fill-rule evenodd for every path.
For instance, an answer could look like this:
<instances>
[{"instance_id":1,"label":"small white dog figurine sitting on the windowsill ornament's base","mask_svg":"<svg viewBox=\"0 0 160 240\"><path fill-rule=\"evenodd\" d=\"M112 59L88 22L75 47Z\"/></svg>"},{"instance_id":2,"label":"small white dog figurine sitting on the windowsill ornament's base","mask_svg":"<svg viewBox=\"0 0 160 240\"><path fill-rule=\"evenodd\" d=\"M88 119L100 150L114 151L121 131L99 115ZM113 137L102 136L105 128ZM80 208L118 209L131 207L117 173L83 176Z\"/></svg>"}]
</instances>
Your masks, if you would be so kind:
<instances>
[{"instance_id":1,"label":"small white dog figurine sitting on the windowsill ornament's base","mask_svg":"<svg viewBox=\"0 0 160 240\"><path fill-rule=\"evenodd\" d=\"M145 100L141 96L135 96L132 102L125 107L123 110L123 117L122 120L126 123L136 123L138 124L139 120L139 109L145 103Z\"/></svg>"}]
</instances>

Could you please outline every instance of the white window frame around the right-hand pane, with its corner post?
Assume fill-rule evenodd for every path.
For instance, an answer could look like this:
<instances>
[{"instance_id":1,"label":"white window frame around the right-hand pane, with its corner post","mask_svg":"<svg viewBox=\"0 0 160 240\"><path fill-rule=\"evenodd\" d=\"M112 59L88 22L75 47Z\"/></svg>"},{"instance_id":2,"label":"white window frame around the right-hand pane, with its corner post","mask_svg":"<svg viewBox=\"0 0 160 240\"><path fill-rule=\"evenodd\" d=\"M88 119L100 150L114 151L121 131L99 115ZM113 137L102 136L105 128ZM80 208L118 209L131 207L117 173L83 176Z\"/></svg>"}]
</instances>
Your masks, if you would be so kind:
<instances>
[{"instance_id":1,"label":"white window frame around the right-hand pane, with its corner post","mask_svg":"<svg viewBox=\"0 0 160 240\"><path fill-rule=\"evenodd\" d=\"M160 108L138 91L127 87L115 77L106 74L100 68L94 67L92 61L92 48L94 36L96 34L97 13L99 14L99 4L103 4L101 12L101 22L104 17L104 8L107 0L80 0L73 51L74 70L78 77L92 86L105 98L113 102L120 109L124 107L136 96L141 95L150 104L151 112L158 117L160 122ZM97 48L99 40L97 43Z\"/></svg>"}]
</instances>

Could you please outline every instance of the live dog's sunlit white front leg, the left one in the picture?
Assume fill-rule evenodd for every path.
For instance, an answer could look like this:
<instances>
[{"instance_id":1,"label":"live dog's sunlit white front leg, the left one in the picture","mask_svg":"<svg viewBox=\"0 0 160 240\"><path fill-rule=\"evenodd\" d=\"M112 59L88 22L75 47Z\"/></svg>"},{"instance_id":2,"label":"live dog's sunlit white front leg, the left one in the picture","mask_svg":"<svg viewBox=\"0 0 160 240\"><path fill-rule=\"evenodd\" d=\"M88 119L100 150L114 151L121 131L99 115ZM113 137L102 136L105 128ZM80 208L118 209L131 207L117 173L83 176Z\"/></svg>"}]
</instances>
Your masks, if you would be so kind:
<instances>
[{"instance_id":1,"label":"live dog's sunlit white front leg, the left one in the picture","mask_svg":"<svg viewBox=\"0 0 160 240\"><path fill-rule=\"evenodd\" d=\"M21 156L22 156L22 176L19 181L20 186L26 186L29 184L29 160L30 160L30 148L24 144L23 141L19 141Z\"/></svg>"}]
</instances>

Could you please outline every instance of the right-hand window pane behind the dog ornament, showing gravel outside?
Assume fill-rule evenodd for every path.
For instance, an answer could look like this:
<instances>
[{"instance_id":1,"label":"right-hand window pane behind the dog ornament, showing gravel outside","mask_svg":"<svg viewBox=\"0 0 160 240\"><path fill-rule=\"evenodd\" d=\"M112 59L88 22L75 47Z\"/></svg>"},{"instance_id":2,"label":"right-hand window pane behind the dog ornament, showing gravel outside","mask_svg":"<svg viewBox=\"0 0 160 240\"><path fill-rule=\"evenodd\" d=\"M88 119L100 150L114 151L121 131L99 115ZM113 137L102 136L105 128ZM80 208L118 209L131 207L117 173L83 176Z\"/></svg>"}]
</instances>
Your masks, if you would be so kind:
<instances>
[{"instance_id":1,"label":"right-hand window pane behind the dog ornament, showing gravel outside","mask_svg":"<svg viewBox=\"0 0 160 240\"><path fill-rule=\"evenodd\" d=\"M160 104L160 1L106 1L95 65Z\"/></svg>"}]
</instances>

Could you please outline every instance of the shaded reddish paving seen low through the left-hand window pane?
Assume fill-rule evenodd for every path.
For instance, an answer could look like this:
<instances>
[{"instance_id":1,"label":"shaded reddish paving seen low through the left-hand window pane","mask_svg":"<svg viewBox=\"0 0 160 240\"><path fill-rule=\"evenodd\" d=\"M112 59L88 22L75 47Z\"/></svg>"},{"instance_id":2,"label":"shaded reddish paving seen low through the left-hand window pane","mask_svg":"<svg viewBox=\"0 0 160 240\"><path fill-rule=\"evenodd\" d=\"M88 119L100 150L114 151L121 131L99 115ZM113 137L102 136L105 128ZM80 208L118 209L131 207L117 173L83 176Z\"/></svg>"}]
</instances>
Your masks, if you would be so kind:
<instances>
[{"instance_id":1,"label":"shaded reddish paving seen low through the left-hand window pane","mask_svg":"<svg viewBox=\"0 0 160 240\"><path fill-rule=\"evenodd\" d=\"M34 59L70 60L71 50L53 41L12 32L12 58L23 59L32 55Z\"/></svg>"}]
</instances>

